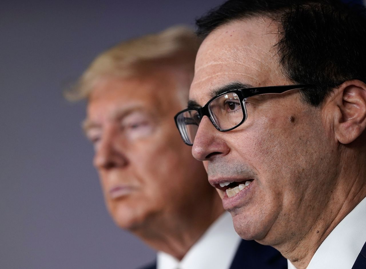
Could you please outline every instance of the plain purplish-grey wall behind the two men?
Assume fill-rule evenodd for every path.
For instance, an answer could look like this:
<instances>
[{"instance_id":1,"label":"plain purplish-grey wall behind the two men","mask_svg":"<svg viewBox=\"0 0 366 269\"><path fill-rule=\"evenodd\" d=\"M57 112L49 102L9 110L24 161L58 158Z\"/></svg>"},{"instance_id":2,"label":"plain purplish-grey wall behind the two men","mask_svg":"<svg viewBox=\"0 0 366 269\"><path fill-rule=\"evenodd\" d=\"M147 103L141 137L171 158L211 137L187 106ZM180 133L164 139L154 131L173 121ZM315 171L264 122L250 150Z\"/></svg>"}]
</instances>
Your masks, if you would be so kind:
<instances>
[{"instance_id":1,"label":"plain purplish-grey wall behind the two men","mask_svg":"<svg viewBox=\"0 0 366 269\"><path fill-rule=\"evenodd\" d=\"M33 2L33 3L31 3ZM104 208L85 103L62 90L102 50L221 0L3 1L0 7L0 268L123 268L154 252Z\"/></svg>"}]
</instances>

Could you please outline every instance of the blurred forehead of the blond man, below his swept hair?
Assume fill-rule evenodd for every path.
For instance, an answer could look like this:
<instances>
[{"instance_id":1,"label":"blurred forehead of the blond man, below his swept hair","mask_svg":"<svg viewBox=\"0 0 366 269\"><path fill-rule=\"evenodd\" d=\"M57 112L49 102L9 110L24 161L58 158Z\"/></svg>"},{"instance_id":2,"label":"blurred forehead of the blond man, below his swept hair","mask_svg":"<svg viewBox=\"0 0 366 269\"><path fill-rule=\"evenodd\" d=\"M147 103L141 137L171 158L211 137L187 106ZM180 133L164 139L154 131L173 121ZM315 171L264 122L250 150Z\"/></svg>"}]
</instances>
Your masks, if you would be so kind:
<instances>
[{"instance_id":1,"label":"blurred forehead of the blond man, below his swept hair","mask_svg":"<svg viewBox=\"0 0 366 269\"><path fill-rule=\"evenodd\" d=\"M88 118L112 118L116 113L142 110L162 115L181 102L179 82L168 72L127 78L104 77L96 82L88 99ZM186 90L187 95L188 90Z\"/></svg>"}]
</instances>

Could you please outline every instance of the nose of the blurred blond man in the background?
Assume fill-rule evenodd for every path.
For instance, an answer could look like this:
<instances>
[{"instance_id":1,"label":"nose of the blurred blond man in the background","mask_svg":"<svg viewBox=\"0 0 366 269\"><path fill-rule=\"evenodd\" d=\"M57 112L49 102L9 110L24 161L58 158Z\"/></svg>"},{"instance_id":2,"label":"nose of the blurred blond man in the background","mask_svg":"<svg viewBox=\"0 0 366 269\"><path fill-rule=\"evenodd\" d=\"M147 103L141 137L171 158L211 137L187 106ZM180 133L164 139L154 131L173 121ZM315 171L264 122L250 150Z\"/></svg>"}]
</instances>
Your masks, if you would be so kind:
<instances>
[{"instance_id":1,"label":"nose of the blurred blond man in the background","mask_svg":"<svg viewBox=\"0 0 366 269\"><path fill-rule=\"evenodd\" d=\"M123 140L113 132L106 131L96 147L94 154L94 166L97 169L111 169L123 167L128 164Z\"/></svg>"}]
</instances>

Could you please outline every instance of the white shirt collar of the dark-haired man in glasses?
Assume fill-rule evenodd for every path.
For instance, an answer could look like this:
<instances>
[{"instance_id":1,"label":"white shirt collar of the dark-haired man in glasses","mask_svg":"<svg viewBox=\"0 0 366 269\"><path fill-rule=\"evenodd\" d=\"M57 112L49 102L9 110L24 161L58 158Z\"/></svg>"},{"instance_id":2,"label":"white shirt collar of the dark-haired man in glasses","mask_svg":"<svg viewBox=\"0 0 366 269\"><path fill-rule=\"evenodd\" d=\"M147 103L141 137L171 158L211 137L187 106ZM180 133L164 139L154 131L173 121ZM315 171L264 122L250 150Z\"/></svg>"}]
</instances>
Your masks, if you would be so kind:
<instances>
[{"instance_id":1,"label":"white shirt collar of the dark-haired man in glasses","mask_svg":"<svg viewBox=\"0 0 366 269\"><path fill-rule=\"evenodd\" d=\"M366 242L366 198L330 232L306 269L351 269ZM288 269L296 269L287 260Z\"/></svg>"}]
</instances>

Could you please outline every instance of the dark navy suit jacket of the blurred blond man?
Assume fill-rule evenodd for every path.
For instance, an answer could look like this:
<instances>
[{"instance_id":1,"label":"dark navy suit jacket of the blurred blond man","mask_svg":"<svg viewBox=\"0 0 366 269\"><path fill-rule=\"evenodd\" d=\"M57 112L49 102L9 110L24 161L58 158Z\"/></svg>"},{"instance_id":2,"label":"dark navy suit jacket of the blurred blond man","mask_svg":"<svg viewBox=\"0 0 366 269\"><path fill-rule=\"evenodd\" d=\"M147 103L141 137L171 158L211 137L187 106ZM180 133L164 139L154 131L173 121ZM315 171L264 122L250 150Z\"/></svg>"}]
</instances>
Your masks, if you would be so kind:
<instances>
[{"instance_id":1,"label":"dark navy suit jacket of the blurred blond man","mask_svg":"<svg viewBox=\"0 0 366 269\"><path fill-rule=\"evenodd\" d=\"M212 255L218 255L218 253L212 253ZM255 241L242 240L232 260L230 269L243 268L287 269L287 260L273 247L264 246ZM156 269L156 261L141 269Z\"/></svg>"}]
</instances>

